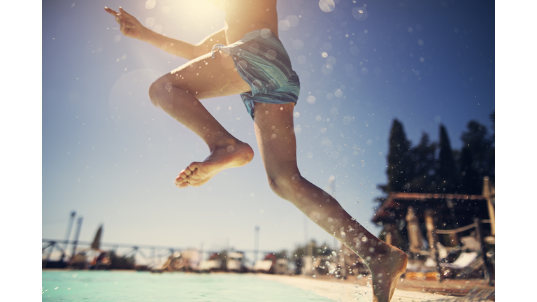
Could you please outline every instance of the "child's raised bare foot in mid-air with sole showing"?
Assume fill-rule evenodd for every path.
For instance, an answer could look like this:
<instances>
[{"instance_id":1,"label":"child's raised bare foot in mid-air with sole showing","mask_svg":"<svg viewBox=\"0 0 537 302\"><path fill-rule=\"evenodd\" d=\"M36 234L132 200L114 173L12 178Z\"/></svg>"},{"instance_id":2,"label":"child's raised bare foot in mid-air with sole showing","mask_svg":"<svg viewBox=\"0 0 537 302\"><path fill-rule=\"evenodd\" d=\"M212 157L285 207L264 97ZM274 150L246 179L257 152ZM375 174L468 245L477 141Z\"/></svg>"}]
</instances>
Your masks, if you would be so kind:
<instances>
[{"instance_id":1,"label":"child's raised bare foot in mid-air with sole showing","mask_svg":"<svg viewBox=\"0 0 537 302\"><path fill-rule=\"evenodd\" d=\"M248 164L254 158L254 150L247 143L228 139L217 146L202 162L193 162L176 178L180 188L199 187L208 182L217 173L227 168L236 168Z\"/></svg>"}]
</instances>

